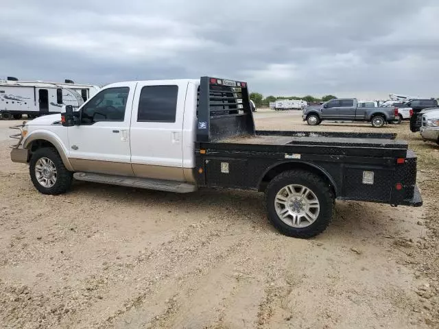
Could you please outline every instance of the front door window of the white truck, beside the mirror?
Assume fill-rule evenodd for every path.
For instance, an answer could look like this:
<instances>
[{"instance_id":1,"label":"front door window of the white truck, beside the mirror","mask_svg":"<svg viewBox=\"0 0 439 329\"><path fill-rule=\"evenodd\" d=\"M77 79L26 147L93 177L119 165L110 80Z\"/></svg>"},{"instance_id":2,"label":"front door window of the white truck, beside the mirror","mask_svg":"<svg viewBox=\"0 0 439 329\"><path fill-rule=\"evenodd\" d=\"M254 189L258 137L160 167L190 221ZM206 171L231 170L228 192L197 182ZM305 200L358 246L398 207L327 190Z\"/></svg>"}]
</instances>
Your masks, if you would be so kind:
<instances>
[{"instance_id":1,"label":"front door window of the white truck, beside the mirror","mask_svg":"<svg viewBox=\"0 0 439 329\"><path fill-rule=\"evenodd\" d=\"M123 121L130 88L108 88L97 93L81 110L81 123L92 125L99 121Z\"/></svg>"}]
</instances>

